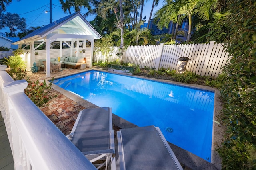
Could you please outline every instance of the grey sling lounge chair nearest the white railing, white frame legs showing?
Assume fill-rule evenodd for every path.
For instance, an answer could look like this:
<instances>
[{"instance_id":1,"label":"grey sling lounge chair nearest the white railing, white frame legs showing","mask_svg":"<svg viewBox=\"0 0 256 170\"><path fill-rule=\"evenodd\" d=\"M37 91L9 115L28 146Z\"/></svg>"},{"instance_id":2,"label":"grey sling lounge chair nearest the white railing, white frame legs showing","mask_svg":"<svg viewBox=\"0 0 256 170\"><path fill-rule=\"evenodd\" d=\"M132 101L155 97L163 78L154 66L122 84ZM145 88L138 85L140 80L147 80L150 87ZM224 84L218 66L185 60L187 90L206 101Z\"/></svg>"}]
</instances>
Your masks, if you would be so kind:
<instances>
[{"instance_id":1,"label":"grey sling lounge chair nearest the white railing, white frame legs showing","mask_svg":"<svg viewBox=\"0 0 256 170\"><path fill-rule=\"evenodd\" d=\"M84 109L79 112L68 139L90 160L104 160L97 169L116 169L112 109L109 107ZM111 164L110 164L111 162Z\"/></svg>"}]
</instances>

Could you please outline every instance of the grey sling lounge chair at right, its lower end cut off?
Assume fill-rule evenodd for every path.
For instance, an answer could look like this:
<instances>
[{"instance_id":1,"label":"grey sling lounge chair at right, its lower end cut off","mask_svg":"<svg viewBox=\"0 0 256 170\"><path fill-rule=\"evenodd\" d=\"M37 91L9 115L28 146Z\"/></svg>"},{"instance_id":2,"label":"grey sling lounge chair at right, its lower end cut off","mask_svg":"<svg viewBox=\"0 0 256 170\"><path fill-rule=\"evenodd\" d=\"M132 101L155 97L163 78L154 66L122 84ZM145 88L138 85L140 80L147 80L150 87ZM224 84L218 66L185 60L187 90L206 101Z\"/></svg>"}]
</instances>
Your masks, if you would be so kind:
<instances>
[{"instance_id":1,"label":"grey sling lounge chair at right, its lower end cut off","mask_svg":"<svg viewBox=\"0 0 256 170\"><path fill-rule=\"evenodd\" d=\"M158 127L117 132L120 170L183 170Z\"/></svg>"}]
</instances>

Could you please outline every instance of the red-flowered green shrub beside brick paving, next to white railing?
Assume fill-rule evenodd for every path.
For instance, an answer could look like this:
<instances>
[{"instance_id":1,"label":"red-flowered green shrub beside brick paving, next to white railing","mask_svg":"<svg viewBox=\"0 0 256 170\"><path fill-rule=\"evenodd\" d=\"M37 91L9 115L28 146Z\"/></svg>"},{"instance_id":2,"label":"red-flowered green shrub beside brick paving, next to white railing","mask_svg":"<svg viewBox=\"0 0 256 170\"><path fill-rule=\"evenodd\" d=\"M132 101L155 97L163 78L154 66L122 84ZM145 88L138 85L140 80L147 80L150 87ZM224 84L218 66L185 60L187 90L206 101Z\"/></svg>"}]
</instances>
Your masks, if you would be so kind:
<instances>
[{"instance_id":1,"label":"red-flowered green shrub beside brick paving, next to white railing","mask_svg":"<svg viewBox=\"0 0 256 170\"><path fill-rule=\"evenodd\" d=\"M57 97L57 95L52 95L49 93L54 78L52 78L52 81L49 85L46 83L45 80L44 82L39 82L39 80L37 80L36 82L31 82L29 80L29 77L27 77L26 80L28 82L28 87L25 89L25 94L32 100L32 102L34 102L34 104L36 104L36 106L47 106L47 103L52 98Z\"/></svg>"}]
</instances>

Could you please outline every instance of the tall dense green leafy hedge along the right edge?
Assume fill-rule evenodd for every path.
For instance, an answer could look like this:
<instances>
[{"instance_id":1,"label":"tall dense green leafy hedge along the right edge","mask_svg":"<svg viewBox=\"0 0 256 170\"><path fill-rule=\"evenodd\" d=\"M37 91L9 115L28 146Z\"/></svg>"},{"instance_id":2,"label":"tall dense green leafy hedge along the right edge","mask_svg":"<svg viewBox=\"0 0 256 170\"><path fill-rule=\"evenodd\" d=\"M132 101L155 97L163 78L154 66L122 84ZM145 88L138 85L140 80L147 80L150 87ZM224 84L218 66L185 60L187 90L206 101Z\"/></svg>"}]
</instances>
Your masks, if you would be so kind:
<instances>
[{"instance_id":1,"label":"tall dense green leafy hedge along the right edge","mask_svg":"<svg viewBox=\"0 0 256 170\"><path fill-rule=\"evenodd\" d=\"M226 140L218 150L223 169L256 168L256 32L255 0L228 0L230 32L225 41L228 75L220 87Z\"/></svg>"}]
</instances>

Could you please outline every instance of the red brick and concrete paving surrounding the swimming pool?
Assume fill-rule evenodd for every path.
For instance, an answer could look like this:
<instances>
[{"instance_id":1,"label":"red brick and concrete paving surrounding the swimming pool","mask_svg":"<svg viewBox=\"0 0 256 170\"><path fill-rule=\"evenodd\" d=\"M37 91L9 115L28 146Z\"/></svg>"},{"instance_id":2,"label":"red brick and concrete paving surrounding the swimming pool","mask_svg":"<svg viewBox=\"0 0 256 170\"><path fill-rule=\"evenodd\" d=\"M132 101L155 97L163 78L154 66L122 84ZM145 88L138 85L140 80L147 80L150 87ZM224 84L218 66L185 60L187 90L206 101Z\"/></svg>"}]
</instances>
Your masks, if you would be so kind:
<instances>
[{"instance_id":1,"label":"red brick and concrete paving surrounding the swimming pool","mask_svg":"<svg viewBox=\"0 0 256 170\"><path fill-rule=\"evenodd\" d=\"M63 76L69 76L72 74L76 74L78 72L84 72L88 71L90 69L86 70L80 70L80 69L67 69L63 70L62 72L56 72L51 75L51 77L54 76L54 78L60 78ZM101 69L95 69L99 71L105 71ZM37 79L43 80L45 78L44 72L38 72L38 73L28 73L30 80L35 81ZM215 99L214 99L214 121L213 121L213 134L212 134L212 163L209 163L208 161L192 154L191 152L188 152L184 149L181 149L180 147L173 145L171 143L170 147L174 151L174 154L176 155L179 162L182 164L182 167L186 170L219 170L221 169L221 161L218 156L218 153L215 151L215 149L222 143L223 137L222 134L224 134L224 128L221 125L217 117L220 115L220 111L222 109L221 100L219 98L219 92L215 88L211 88L208 86L200 86L195 84L183 84L178 82L172 82L168 80L156 80L152 78L145 78L141 76L136 76L143 79L148 80L154 80L159 82L168 82L172 84L179 84L182 86L188 86L188 87L194 87L204 90L210 90L215 92ZM49 80L49 78L47 78ZM57 98L54 98L49 103L49 106L40 108L51 120L52 122L66 135L69 134L73 125L74 121L76 120L76 117L80 110L84 108L95 108L98 107L78 96L75 94L72 94L71 92L68 92L56 85L52 85L52 90L50 91L52 94L58 94ZM119 130L119 128L127 128L127 127L136 127L136 125L116 116L113 114L113 125L114 129L116 131ZM117 156L118 160L118 156Z\"/></svg>"}]
</instances>

